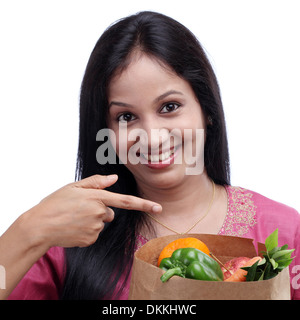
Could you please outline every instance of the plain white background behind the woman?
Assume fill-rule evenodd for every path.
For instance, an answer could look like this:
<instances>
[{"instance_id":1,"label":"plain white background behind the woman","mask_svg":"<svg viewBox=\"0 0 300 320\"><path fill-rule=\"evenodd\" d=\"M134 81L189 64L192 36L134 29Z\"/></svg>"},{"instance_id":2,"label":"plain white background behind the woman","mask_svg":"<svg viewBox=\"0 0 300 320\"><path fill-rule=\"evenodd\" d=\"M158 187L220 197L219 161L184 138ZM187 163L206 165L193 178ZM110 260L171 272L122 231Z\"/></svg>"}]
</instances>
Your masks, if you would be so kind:
<instances>
[{"instance_id":1,"label":"plain white background behind the woman","mask_svg":"<svg viewBox=\"0 0 300 320\"><path fill-rule=\"evenodd\" d=\"M0 2L0 234L74 181L78 97L112 22L167 14L204 46L228 127L232 185L300 211L298 0Z\"/></svg>"}]
</instances>

